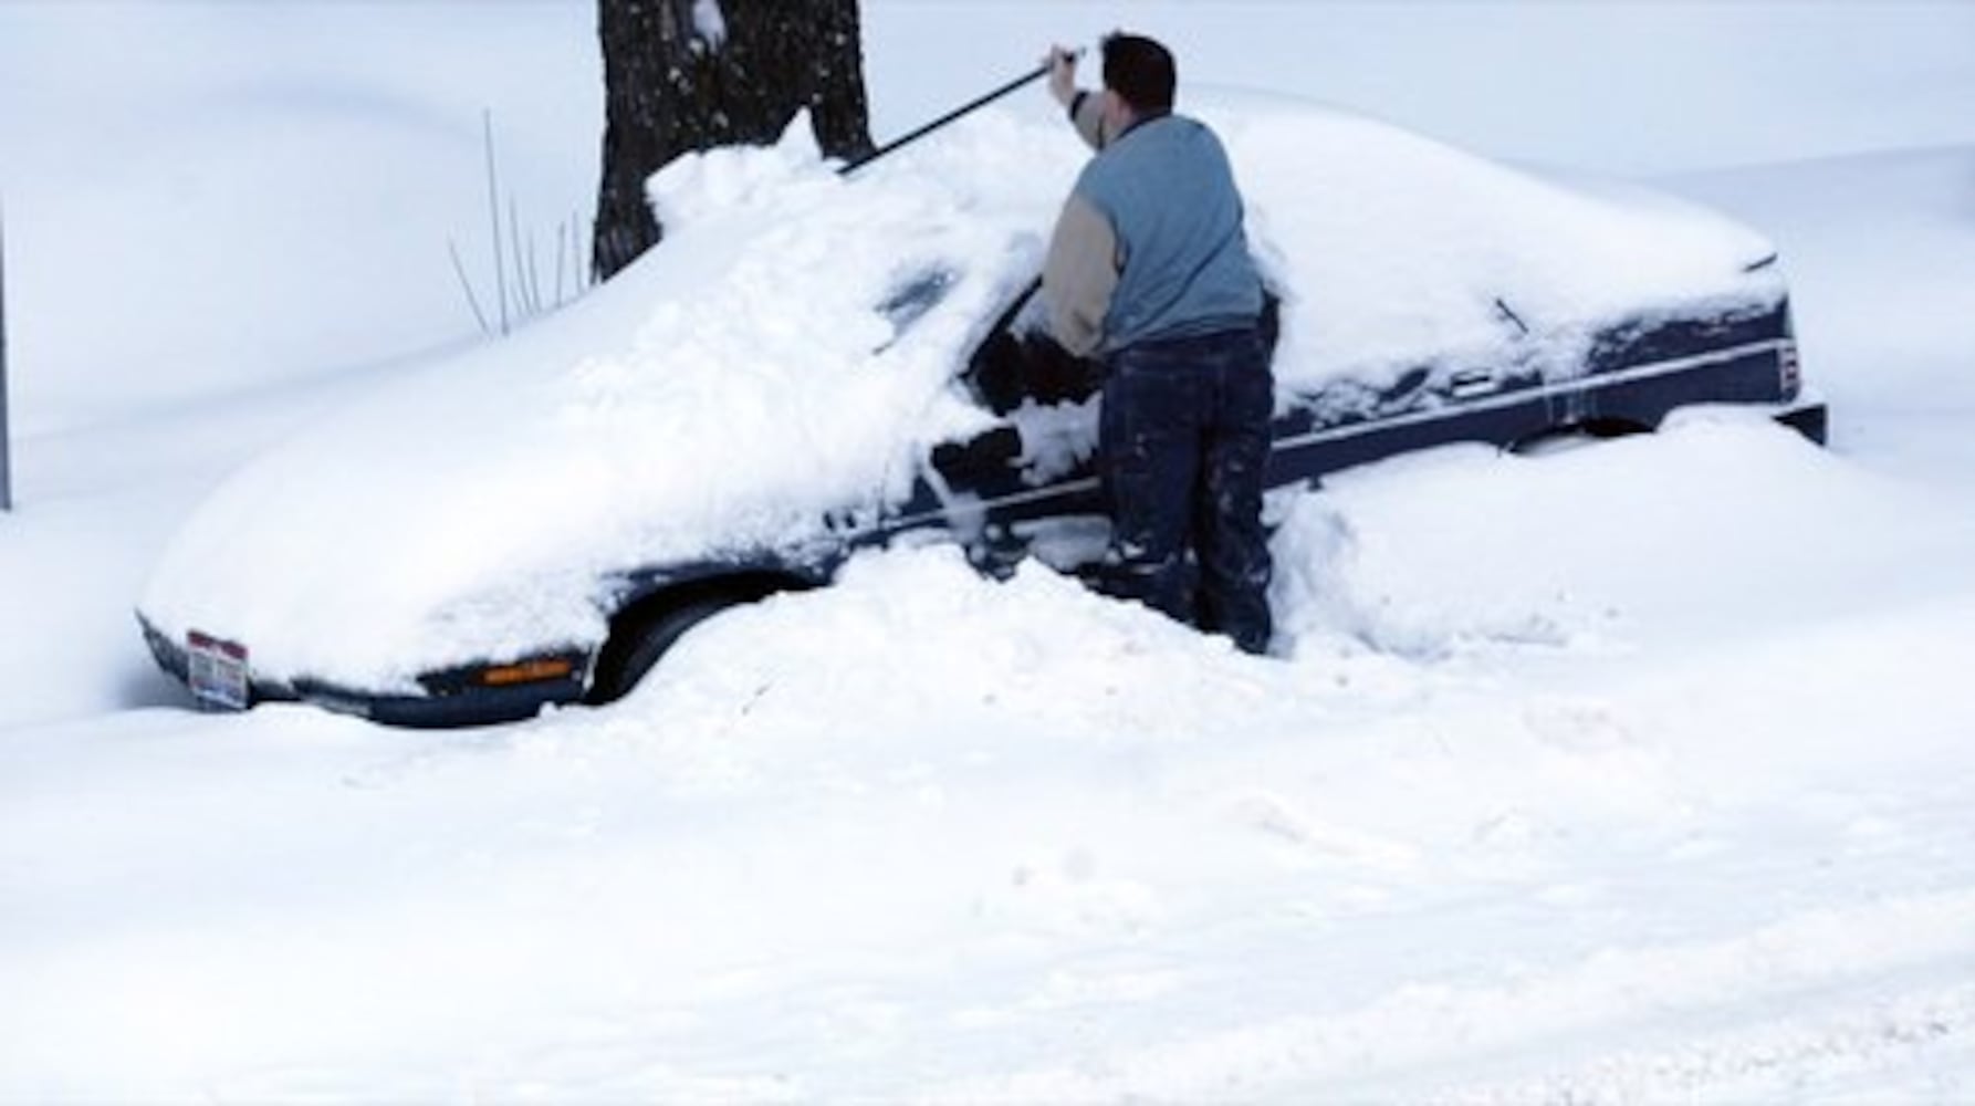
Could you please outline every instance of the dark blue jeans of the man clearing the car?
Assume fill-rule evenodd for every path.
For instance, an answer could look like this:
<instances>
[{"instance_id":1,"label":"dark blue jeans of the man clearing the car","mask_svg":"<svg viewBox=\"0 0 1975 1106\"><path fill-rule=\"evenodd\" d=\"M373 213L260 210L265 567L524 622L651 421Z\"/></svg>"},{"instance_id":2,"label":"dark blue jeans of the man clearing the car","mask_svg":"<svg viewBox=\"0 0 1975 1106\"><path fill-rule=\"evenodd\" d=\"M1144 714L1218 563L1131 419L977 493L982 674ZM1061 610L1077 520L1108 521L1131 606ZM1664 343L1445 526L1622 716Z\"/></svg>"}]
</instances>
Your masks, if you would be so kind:
<instances>
[{"instance_id":1,"label":"dark blue jeans of the man clearing the car","mask_svg":"<svg viewBox=\"0 0 1975 1106\"><path fill-rule=\"evenodd\" d=\"M1104 587L1268 648L1262 470L1274 381L1254 330L1108 357L1098 464L1112 514Z\"/></svg>"}]
</instances>

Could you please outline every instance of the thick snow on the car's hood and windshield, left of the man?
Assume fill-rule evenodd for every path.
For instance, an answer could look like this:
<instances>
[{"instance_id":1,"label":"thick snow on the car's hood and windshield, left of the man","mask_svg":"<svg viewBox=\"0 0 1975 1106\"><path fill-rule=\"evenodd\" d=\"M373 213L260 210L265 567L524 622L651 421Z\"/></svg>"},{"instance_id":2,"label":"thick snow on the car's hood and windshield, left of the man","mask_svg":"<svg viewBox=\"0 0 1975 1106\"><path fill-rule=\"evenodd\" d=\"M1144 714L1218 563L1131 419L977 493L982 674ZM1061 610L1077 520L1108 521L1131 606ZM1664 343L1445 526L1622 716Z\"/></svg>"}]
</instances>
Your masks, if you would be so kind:
<instances>
[{"instance_id":1,"label":"thick snow on the car's hood and windshield, left of the man","mask_svg":"<svg viewBox=\"0 0 1975 1106\"><path fill-rule=\"evenodd\" d=\"M1035 217L974 190L980 164L843 182L792 142L685 160L654 186L662 251L243 470L168 549L146 616L245 640L275 677L409 689L598 642L616 571L800 559L826 514L903 498L910 456L986 421L950 375L1037 267ZM881 306L928 273L942 298L901 330Z\"/></svg>"}]
</instances>

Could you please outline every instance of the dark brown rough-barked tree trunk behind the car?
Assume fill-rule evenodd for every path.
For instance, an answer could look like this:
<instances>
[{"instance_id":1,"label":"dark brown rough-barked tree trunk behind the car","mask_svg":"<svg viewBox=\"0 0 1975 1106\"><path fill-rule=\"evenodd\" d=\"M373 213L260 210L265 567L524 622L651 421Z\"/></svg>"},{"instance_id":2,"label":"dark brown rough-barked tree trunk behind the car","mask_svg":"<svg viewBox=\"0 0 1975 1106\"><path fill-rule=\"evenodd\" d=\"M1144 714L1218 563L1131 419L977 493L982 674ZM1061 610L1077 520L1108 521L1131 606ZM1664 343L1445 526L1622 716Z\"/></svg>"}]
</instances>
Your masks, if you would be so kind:
<instances>
[{"instance_id":1,"label":"dark brown rough-barked tree trunk behind the car","mask_svg":"<svg viewBox=\"0 0 1975 1106\"><path fill-rule=\"evenodd\" d=\"M598 0L598 278L658 243L644 184L679 154L772 142L802 109L826 156L871 150L857 0Z\"/></svg>"}]
</instances>

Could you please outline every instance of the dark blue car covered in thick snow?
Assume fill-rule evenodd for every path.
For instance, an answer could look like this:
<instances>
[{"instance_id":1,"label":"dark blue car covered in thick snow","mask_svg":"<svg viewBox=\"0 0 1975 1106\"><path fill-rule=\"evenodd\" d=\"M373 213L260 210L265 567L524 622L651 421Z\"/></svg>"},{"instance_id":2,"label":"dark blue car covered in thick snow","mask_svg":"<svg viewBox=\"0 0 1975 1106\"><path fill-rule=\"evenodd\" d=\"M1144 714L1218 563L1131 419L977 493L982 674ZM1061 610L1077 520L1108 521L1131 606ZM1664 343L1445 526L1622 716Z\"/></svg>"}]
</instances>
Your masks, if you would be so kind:
<instances>
[{"instance_id":1,"label":"dark blue car covered in thick snow","mask_svg":"<svg viewBox=\"0 0 1975 1106\"><path fill-rule=\"evenodd\" d=\"M1311 105L1185 107L1226 140L1268 282L1272 488L1691 405L1823 440L1758 233ZM859 549L1088 561L1098 369L1037 296L1080 142L982 113L841 178L790 134L675 162L666 241L608 284L233 474L138 604L162 668L221 707L512 721L612 701L689 626Z\"/></svg>"}]
</instances>

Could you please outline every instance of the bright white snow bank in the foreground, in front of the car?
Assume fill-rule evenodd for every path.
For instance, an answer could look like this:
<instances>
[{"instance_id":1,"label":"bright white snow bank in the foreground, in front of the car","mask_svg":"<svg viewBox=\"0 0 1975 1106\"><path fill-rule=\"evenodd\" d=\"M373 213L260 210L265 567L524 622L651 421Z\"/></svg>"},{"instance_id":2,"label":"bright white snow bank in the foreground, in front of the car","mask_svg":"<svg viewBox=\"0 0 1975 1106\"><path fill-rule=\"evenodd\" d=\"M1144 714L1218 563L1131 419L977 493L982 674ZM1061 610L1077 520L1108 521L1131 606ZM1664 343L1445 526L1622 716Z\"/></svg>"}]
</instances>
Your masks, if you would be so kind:
<instances>
[{"instance_id":1,"label":"bright white snow bank in the foreground, in front of the car","mask_svg":"<svg viewBox=\"0 0 1975 1106\"><path fill-rule=\"evenodd\" d=\"M1633 525L1535 525L1594 492ZM1766 1096L1910 1065L1975 1033L1975 899L1934 855L1961 735L1928 723L1975 711L1975 596L1856 585L1975 549L1936 506L1691 419L1284 498L1278 553L1331 561L1280 596L1286 662L930 547L705 624L604 711L32 731L0 743L0 968L34 997L0 1003L0 1096ZM1870 719L1902 737L1862 762ZM1754 1013L1697 1027L1724 1007Z\"/></svg>"}]
</instances>

